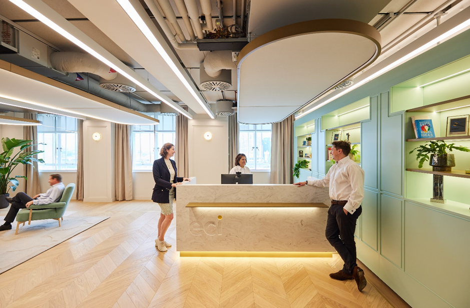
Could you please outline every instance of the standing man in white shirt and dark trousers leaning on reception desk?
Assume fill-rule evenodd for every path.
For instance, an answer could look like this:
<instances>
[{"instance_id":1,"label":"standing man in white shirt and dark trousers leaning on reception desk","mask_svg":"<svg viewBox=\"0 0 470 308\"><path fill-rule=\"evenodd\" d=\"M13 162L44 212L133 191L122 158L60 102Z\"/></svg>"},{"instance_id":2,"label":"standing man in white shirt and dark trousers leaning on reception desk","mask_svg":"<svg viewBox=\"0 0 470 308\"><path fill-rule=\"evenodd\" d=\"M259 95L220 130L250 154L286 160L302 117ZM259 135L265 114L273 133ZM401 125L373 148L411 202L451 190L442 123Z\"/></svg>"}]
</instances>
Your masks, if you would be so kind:
<instances>
[{"instance_id":1,"label":"standing man in white shirt and dark trousers leaning on reception desk","mask_svg":"<svg viewBox=\"0 0 470 308\"><path fill-rule=\"evenodd\" d=\"M356 220L362 212L364 198L364 170L348 157L351 145L346 141L333 141L333 159L336 161L321 180L299 182L326 187L329 186L331 206L328 209L325 235L344 261L343 268L331 273L337 280L355 279L359 291L366 286L364 271L356 263L354 232Z\"/></svg>"}]
</instances>

